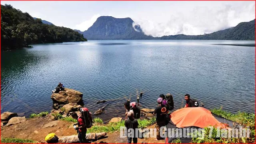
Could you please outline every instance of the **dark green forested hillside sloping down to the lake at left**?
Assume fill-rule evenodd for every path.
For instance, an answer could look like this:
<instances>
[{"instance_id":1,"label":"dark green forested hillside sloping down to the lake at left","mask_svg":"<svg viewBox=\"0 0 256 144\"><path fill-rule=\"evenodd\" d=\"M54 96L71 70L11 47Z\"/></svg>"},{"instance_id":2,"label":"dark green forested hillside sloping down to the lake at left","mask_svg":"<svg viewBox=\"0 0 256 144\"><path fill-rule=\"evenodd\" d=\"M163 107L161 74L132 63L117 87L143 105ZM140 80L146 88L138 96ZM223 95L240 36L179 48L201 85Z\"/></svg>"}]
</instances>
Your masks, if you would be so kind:
<instances>
[{"instance_id":1,"label":"dark green forested hillside sloping down to the lake at left","mask_svg":"<svg viewBox=\"0 0 256 144\"><path fill-rule=\"evenodd\" d=\"M87 41L70 28L42 23L11 5L1 5L1 50L20 49L31 44Z\"/></svg>"}]
</instances>

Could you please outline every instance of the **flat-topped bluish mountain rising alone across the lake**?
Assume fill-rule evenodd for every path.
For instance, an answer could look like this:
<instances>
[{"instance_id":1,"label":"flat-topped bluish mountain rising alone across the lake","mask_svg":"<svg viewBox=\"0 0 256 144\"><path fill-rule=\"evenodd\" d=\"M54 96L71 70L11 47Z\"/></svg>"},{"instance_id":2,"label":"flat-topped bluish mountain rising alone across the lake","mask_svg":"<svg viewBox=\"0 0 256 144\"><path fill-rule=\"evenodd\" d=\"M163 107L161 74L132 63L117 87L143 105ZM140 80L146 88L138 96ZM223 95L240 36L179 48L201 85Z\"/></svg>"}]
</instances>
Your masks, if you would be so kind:
<instances>
[{"instance_id":1,"label":"flat-topped bluish mountain rising alone across the lake","mask_svg":"<svg viewBox=\"0 0 256 144\"><path fill-rule=\"evenodd\" d=\"M143 33L140 25L134 25L131 18L101 16L87 31L81 32L86 39L153 39ZM78 31L79 32L79 31Z\"/></svg>"}]
</instances>

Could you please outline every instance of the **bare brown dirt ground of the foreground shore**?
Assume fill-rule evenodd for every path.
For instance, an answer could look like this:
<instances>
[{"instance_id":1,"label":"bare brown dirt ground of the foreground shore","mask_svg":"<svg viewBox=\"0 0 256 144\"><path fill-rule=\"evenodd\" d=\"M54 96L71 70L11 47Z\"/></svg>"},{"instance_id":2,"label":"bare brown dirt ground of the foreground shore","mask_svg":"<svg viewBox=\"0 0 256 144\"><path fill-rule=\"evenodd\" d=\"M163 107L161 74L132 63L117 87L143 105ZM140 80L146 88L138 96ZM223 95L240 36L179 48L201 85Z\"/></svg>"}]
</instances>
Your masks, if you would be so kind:
<instances>
[{"instance_id":1,"label":"bare brown dirt ground of the foreground shore","mask_svg":"<svg viewBox=\"0 0 256 144\"><path fill-rule=\"evenodd\" d=\"M55 133L57 136L69 136L77 134L74 128L68 128L72 123L66 121L59 121L58 125L52 127L42 128L45 124L50 123L51 120L44 118L35 118L27 120L23 123L18 123L11 126L1 127L2 138L22 138L45 143L44 138L49 133ZM154 128L155 125L148 128ZM155 141L155 138L138 138L138 143L164 143L164 140ZM127 138L120 138L120 132L107 133L106 138L102 138L91 143L126 143Z\"/></svg>"}]
</instances>

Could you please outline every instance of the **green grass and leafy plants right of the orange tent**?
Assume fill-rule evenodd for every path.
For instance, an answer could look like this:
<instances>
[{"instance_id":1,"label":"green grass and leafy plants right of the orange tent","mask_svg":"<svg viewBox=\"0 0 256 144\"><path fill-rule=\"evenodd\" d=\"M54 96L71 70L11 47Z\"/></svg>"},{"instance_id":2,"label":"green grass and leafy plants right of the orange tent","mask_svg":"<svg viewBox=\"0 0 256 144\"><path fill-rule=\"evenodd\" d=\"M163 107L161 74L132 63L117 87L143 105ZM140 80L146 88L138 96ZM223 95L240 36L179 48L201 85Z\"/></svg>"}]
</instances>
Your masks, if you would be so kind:
<instances>
[{"instance_id":1,"label":"green grass and leafy plants right of the orange tent","mask_svg":"<svg viewBox=\"0 0 256 144\"><path fill-rule=\"evenodd\" d=\"M223 111L222 107L219 109L210 110L212 113L224 117L230 121L234 121L244 127L250 126L250 138L224 138L221 137L223 132L220 132L220 137L218 138L217 129L204 128L204 137L192 138L192 143L254 143L255 142L255 114L254 113L230 113ZM212 136L209 138L210 130L212 131Z\"/></svg>"}]
</instances>

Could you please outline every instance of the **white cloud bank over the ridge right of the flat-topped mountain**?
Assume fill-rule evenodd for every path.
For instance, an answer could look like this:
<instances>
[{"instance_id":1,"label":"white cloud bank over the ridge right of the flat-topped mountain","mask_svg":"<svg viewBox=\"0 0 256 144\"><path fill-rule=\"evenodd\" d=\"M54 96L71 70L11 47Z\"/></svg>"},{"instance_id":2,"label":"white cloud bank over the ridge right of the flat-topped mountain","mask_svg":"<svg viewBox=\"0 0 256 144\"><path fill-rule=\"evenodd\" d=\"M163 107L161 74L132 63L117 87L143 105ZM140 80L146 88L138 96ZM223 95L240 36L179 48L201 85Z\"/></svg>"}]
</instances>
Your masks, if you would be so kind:
<instances>
[{"instance_id":1,"label":"white cloud bank over the ridge right of the flat-topped mountain","mask_svg":"<svg viewBox=\"0 0 256 144\"><path fill-rule=\"evenodd\" d=\"M218 7L196 6L183 12L164 14L161 21L135 18L146 35L203 35L234 27L243 21L255 19L255 3L241 5L223 4Z\"/></svg>"}]
</instances>

